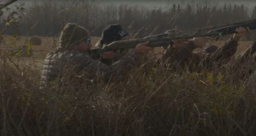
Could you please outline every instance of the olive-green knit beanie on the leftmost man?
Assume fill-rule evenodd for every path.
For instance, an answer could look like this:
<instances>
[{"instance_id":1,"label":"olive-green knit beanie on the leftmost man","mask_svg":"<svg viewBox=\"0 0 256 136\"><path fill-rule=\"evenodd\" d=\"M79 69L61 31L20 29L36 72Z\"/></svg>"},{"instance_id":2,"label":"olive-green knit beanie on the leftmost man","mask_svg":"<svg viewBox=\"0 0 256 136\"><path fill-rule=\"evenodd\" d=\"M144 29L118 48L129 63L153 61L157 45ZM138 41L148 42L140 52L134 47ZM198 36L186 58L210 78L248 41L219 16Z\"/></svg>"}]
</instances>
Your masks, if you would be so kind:
<instances>
[{"instance_id":1,"label":"olive-green knit beanie on the leftmost man","mask_svg":"<svg viewBox=\"0 0 256 136\"><path fill-rule=\"evenodd\" d=\"M88 37L90 37L90 34L85 28L75 23L68 23L60 34L59 47L67 48Z\"/></svg>"}]
</instances>

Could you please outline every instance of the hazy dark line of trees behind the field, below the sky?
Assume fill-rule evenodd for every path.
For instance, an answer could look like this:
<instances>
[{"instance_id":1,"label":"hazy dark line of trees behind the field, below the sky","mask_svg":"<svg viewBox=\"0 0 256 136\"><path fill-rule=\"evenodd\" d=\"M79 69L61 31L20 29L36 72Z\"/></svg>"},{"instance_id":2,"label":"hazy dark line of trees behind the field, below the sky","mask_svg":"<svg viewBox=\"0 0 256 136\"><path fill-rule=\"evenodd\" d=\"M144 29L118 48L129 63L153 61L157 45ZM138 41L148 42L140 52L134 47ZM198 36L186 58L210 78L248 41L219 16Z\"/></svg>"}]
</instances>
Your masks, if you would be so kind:
<instances>
[{"instance_id":1,"label":"hazy dark line of trees behind the field, below the sky","mask_svg":"<svg viewBox=\"0 0 256 136\"><path fill-rule=\"evenodd\" d=\"M143 37L174 28L189 30L251 18L256 18L256 6L248 10L244 5L172 4L152 9L139 5L103 6L87 1L44 1L27 7L19 24L9 27L6 34L57 36L67 22L78 22L92 36L100 36L108 24L120 23L133 34L140 30Z\"/></svg>"}]
</instances>

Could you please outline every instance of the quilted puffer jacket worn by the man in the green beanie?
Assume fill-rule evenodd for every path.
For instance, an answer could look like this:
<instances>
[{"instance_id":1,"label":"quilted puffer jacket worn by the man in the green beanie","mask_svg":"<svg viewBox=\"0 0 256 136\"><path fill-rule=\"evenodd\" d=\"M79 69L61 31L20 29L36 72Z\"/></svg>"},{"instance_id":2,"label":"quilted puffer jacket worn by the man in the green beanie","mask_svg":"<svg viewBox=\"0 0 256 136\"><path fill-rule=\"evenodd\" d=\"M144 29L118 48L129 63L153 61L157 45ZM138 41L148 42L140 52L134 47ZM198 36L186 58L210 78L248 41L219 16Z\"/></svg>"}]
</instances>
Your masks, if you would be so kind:
<instances>
[{"instance_id":1,"label":"quilted puffer jacket worn by the man in the green beanie","mask_svg":"<svg viewBox=\"0 0 256 136\"><path fill-rule=\"evenodd\" d=\"M67 67L75 69L76 72L83 71L90 78L99 76L108 80L112 74L122 75L138 62L139 55L135 50L110 66L92 59L88 53L76 50L52 51L48 53L42 66L41 85L42 87L48 86L52 80L62 77L62 74L65 74L63 69Z\"/></svg>"}]
</instances>

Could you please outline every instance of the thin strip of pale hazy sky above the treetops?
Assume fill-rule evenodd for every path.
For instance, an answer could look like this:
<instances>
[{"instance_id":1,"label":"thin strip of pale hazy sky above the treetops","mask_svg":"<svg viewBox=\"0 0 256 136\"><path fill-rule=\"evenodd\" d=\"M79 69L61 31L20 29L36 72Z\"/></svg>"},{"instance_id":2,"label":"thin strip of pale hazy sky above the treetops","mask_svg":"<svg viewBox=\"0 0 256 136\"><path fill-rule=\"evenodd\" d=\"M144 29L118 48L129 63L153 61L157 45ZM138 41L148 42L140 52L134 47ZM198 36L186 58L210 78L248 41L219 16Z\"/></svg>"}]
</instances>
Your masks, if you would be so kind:
<instances>
[{"instance_id":1,"label":"thin strip of pale hazy sky above the treetops","mask_svg":"<svg viewBox=\"0 0 256 136\"><path fill-rule=\"evenodd\" d=\"M0 2L6 2L7 0L0 0ZM18 0L15 2L13 5L17 5L19 3L25 3L27 6L31 6L32 4L35 3L41 3L41 2L65 2L69 0ZM79 2L79 1L86 1L86 2L93 2L93 0L72 0L72 2ZM256 1L255 0L95 0L93 2L96 5L99 6L108 6L108 5L114 5L114 6L119 6L121 4L123 5L128 5L128 6L143 6L147 8L168 8L169 6L172 6L174 3L175 4L180 4L181 8L185 8L187 4L189 5L196 5L196 4L201 4L201 5L208 5L208 6L222 6L224 4L228 5L244 5L245 7L248 8L248 10L252 10L256 6ZM10 6L11 8L11 6Z\"/></svg>"}]
</instances>

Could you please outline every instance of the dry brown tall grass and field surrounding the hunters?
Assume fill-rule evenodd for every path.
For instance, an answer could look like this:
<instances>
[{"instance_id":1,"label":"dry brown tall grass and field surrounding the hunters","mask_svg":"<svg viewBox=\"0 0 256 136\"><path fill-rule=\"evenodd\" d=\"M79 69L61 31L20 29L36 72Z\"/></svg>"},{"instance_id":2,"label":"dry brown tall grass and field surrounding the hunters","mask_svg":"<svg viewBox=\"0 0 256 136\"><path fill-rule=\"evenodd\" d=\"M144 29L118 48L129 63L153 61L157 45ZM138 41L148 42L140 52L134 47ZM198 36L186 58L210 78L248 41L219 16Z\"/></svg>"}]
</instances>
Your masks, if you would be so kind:
<instances>
[{"instance_id":1,"label":"dry brown tall grass and field surrounding the hunters","mask_svg":"<svg viewBox=\"0 0 256 136\"><path fill-rule=\"evenodd\" d=\"M29 39L5 36L1 44L1 135L256 133L254 97L246 96L241 78L246 68L237 68L234 60L220 69L189 73L156 65L152 56L109 83L77 76L63 81L65 86L39 89L40 62L58 38L41 37L31 58L9 55L10 48L27 45ZM240 42L238 54L249 45Z\"/></svg>"}]
</instances>

